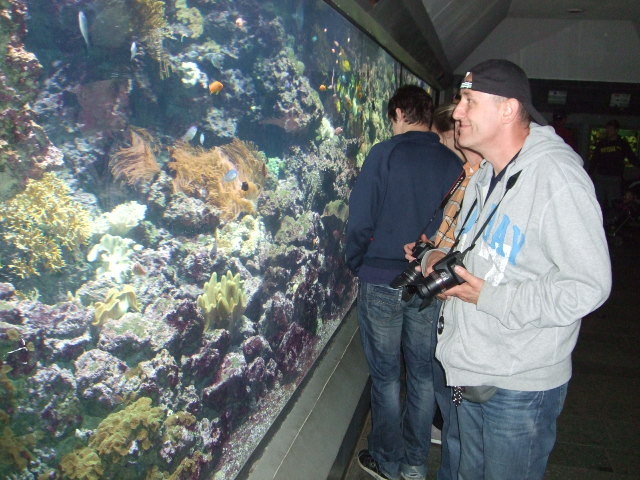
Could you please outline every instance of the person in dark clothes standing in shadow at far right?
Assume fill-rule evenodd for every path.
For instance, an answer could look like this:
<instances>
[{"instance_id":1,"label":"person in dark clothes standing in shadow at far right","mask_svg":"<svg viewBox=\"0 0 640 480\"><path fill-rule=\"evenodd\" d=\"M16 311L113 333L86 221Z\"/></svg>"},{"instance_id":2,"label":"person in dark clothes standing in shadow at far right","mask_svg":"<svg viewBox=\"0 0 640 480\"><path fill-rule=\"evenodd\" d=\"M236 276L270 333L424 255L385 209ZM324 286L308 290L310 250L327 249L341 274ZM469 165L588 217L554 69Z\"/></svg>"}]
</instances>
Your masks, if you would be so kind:
<instances>
[{"instance_id":1,"label":"person in dark clothes standing in shadow at far right","mask_svg":"<svg viewBox=\"0 0 640 480\"><path fill-rule=\"evenodd\" d=\"M637 155L619 135L619 130L620 123L615 119L605 124L605 137L596 144L589 165L589 173L596 186L596 196L607 226L614 221L616 202L622 199L624 160L628 159L635 166L640 166Z\"/></svg>"}]
</instances>

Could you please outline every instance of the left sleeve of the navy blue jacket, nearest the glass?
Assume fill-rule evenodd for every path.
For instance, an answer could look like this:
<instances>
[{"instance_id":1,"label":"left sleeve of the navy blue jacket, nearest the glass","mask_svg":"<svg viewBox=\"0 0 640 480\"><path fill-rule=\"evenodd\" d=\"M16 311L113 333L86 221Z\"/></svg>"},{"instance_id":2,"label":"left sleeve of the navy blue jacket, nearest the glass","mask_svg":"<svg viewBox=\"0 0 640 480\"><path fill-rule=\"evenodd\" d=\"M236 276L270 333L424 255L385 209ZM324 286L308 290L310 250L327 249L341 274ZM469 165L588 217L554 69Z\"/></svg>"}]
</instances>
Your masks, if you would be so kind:
<instances>
[{"instance_id":1,"label":"left sleeve of the navy blue jacket, nearest the glass","mask_svg":"<svg viewBox=\"0 0 640 480\"><path fill-rule=\"evenodd\" d=\"M349 197L346 263L357 273L372 240L376 219L384 200L388 166L380 144L367 156Z\"/></svg>"}]
</instances>

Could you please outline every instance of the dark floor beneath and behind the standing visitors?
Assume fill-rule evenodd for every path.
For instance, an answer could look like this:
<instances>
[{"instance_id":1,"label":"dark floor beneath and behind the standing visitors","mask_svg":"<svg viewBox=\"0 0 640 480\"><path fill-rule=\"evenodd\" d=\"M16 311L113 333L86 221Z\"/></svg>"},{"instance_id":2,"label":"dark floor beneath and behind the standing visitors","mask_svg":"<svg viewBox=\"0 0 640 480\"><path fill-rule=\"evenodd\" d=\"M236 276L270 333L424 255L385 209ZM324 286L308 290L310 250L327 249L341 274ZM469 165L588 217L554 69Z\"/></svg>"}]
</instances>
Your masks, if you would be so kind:
<instances>
[{"instance_id":1,"label":"dark floor beneath and behind the standing visitors","mask_svg":"<svg viewBox=\"0 0 640 480\"><path fill-rule=\"evenodd\" d=\"M611 248L613 291L583 321L545 480L640 479L639 247L640 234L633 232ZM369 428L356 452L366 448ZM427 480L436 478L439 457L440 447L432 446ZM345 480L370 478L354 457Z\"/></svg>"}]
</instances>

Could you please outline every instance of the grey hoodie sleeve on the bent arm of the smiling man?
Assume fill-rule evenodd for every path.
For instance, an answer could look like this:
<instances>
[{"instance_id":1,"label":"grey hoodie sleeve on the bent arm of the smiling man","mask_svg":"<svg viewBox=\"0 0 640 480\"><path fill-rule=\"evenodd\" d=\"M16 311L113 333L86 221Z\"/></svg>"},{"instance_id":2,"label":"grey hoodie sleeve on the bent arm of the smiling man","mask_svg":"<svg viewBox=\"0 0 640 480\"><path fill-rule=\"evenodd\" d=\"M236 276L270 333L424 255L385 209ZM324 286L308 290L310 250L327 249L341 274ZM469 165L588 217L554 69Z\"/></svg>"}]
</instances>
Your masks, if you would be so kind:
<instances>
[{"instance_id":1,"label":"grey hoodie sleeve on the bent arm of the smiling man","mask_svg":"<svg viewBox=\"0 0 640 480\"><path fill-rule=\"evenodd\" d=\"M506 328L570 325L598 308L611 290L602 216L581 184L557 191L544 209L540 242L547 271L527 281L485 283L477 308Z\"/></svg>"}]
</instances>

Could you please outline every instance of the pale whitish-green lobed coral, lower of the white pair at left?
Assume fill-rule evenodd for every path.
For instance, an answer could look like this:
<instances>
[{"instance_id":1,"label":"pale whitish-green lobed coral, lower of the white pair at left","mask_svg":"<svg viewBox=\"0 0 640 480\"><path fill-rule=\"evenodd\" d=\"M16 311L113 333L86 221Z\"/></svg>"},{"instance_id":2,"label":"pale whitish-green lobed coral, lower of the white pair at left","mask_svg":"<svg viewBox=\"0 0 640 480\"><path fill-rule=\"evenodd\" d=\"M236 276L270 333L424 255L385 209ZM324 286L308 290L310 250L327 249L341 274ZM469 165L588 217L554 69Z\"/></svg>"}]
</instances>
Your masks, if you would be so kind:
<instances>
[{"instance_id":1,"label":"pale whitish-green lobed coral, lower of the white pair at left","mask_svg":"<svg viewBox=\"0 0 640 480\"><path fill-rule=\"evenodd\" d=\"M131 256L141 248L141 245L130 238L106 233L100 239L100 243L89 250L87 260L100 260L100 266L96 270L98 277L107 277L114 282L123 283L131 273Z\"/></svg>"}]
</instances>

